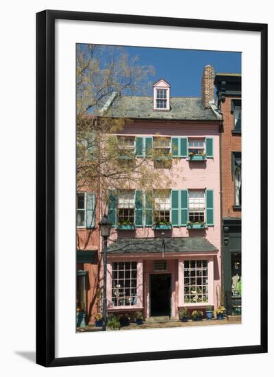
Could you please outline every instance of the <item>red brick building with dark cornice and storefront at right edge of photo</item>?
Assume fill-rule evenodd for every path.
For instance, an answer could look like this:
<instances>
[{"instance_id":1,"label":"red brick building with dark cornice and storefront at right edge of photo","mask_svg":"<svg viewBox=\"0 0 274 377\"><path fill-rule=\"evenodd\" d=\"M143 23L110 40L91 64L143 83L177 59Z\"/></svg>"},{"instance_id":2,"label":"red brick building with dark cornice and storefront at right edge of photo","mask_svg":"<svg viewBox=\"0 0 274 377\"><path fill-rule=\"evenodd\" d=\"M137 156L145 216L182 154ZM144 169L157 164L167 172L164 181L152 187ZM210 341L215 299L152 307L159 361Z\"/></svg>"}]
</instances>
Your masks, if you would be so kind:
<instances>
[{"instance_id":1,"label":"red brick building with dark cornice and storefront at right edge of photo","mask_svg":"<svg viewBox=\"0 0 274 377\"><path fill-rule=\"evenodd\" d=\"M223 293L232 315L241 313L241 75L216 73L221 127L221 216Z\"/></svg>"}]
</instances>

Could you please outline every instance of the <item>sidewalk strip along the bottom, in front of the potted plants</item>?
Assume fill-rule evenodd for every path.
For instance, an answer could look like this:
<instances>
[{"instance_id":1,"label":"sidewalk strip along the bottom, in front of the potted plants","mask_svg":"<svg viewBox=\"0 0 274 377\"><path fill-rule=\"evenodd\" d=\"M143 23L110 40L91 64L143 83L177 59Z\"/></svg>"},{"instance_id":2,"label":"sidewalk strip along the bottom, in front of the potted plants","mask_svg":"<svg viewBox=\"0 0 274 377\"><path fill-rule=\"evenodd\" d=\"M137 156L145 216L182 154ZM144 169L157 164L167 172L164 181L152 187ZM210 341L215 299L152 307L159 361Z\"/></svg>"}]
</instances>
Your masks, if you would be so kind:
<instances>
[{"instance_id":1,"label":"sidewalk strip along the bottom, in front of the potted plants","mask_svg":"<svg viewBox=\"0 0 274 377\"><path fill-rule=\"evenodd\" d=\"M182 321L166 321L166 322L144 322L142 325L129 324L128 326L121 326L120 330L135 330L135 329L144 329L144 328L174 328L174 327L189 327L189 326L219 326L219 325L231 325L231 324L240 324L241 322L238 319L227 318L224 319L203 319L201 321L192 321L188 322ZM91 331L101 331L101 327L96 327L95 325L87 325L84 328L77 328L77 332L91 332Z\"/></svg>"}]
</instances>

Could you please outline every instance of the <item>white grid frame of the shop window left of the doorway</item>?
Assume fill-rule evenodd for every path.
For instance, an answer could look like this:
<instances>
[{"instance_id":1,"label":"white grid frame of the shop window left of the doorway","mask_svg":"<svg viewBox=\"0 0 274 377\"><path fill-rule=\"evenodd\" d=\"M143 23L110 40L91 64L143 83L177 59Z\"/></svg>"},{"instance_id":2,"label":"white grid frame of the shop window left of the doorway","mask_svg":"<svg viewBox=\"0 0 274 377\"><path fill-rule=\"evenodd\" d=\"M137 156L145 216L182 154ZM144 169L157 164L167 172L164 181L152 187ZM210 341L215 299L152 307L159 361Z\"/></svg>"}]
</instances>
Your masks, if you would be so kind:
<instances>
[{"instance_id":1,"label":"white grid frame of the shop window left of the doorway","mask_svg":"<svg viewBox=\"0 0 274 377\"><path fill-rule=\"evenodd\" d=\"M114 269L114 263L117 264L117 269ZM119 269L119 263L123 263L123 269ZM125 269L125 263L130 263L130 269ZM136 269L132 269L132 263L136 263ZM119 271L123 271L123 278L119 278ZM130 278L125 278L125 271L130 271L129 275L130 275ZM132 271L136 271L136 278L132 278ZM117 276L116 278L113 278L114 276L114 272L117 273ZM119 283L119 280L123 280L123 286L124 287L119 287L119 285L121 284L115 284L115 287L114 287L114 282L116 281L116 283ZM129 296L126 296L125 294L123 296L120 296L120 292L123 291L125 293L125 281L126 280L130 280L129 282L129 287L127 287L127 289L129 289L130 291L132 289L135 289L135 295L129 295ZM132 280L136 280L136 287L132 287ZM137 302L138 302L138 294L137 294L137 291L138 291L138 262L137 260L119 260L117 262L112 262L112 275L111 275L111 302L112 302L112 308L125 308L125 307L128 307L128 308L132 308L134 306L137 306ZM119 295L118 295L119 293ZM120 298L119 298L120 297ZM121 298L122 297L122 298ZM123 300L123 304L121 305L117 305L118 303L118 300ZM125 300L130 300L130 304L125 304Z\"/></svg>"}]
</instances>

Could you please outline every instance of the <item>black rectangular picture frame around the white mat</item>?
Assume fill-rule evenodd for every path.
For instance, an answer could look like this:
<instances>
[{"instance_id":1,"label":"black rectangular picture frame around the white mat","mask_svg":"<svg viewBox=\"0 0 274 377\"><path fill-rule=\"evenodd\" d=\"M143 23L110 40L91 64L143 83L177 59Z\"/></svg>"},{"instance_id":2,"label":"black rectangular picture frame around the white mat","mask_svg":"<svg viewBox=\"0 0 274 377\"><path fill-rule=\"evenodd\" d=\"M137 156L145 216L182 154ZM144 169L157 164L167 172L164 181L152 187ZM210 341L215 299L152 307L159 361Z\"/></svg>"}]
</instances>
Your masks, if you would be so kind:
<instances>
[{"instance_id":1,"label":"black rectangular picture frame around the white mat","mask_svg":"<svg viewBox=\"0 0 274 377\"><path fill-rule=\"evenodd\" d=\"M55 20L101 21L260 32L260 344L55 358ZM158 16L45 10L36 14L36 363L45 367L267 352L267 25Z\"/></svg>"}]
</instances>

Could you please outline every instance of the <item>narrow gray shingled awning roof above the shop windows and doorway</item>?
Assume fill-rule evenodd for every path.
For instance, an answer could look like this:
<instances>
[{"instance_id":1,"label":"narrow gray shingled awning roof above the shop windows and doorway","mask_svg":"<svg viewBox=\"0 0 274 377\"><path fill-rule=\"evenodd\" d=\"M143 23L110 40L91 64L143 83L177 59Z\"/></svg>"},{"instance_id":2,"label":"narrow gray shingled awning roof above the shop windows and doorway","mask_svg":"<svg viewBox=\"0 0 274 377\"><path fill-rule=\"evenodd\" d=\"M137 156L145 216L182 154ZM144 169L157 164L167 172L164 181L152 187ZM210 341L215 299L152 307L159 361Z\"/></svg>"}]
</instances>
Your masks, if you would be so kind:
<instances>
[{"instance_id":1,"label":"narrow gray shingled awning roof above the shop windows and doorway","mask_svg":"<svg viewBox=\"0 0 274 377\"><path fill-rule=\"evenodd\" d=\"M164 239L165 253L216 252L204 237L170 237ZM118 239L108 247L109 254L162 253L162 239Z\"/></svg>"}]
</instances>

